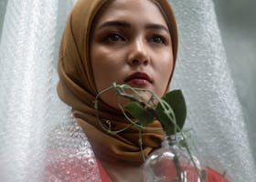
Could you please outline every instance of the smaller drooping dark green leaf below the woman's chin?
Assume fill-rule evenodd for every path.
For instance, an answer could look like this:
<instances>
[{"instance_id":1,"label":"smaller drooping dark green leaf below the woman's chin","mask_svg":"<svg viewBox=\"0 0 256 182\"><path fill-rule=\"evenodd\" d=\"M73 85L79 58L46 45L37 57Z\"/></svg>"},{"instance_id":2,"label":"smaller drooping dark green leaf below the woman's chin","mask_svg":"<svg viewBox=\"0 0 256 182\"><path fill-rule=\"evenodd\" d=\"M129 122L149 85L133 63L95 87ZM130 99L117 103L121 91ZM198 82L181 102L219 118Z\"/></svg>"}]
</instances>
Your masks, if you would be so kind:
<instances>
[{"instance_id":1,"label":"smaller drooping dark green leaf below the woman's chin","mask_svg":"<svg viewBox=\"0 0 256 182\"><path fill-rule=\"evenodd\" d=\"M137 102L129 101L124 107L142 126L150 124L155 120L155 112L146 109Z\"/></svg>"}]
</instances>

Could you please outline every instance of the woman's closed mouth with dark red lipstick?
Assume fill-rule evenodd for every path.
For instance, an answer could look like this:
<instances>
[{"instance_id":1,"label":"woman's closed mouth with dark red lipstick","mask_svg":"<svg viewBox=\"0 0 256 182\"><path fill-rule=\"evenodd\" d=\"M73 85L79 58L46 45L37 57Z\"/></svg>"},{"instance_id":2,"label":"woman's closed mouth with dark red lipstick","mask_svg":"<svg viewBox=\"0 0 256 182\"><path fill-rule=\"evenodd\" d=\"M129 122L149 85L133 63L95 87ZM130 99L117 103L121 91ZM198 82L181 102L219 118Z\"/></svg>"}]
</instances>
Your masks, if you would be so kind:
<instances>
[{"instance_id":1,"label":"woman's closed mouth with dark red lipstick","mask_svg":"<svg viewBox=\"0 0 256 182\"><path fill-rule=\"evenodd\" d=\"M143 87L152 84L150 76L143 72L136 72L124 79L124 83L129 86Z\"/></svg>"}]
</instances>

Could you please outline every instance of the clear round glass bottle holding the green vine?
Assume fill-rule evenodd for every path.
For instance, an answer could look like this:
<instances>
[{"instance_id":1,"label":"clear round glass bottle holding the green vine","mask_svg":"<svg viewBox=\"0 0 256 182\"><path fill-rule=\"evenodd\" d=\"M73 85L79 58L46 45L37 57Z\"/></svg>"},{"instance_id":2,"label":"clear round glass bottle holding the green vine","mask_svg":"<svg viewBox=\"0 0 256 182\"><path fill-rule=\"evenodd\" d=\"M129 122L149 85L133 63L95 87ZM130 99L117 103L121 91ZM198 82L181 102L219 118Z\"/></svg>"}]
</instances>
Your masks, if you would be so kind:
<instances>
[{"instance_id":1,"label":"clear round glass bottle holding the green vine","mask_svg":"<svg viewBox=\"0 0 256 182\"><path fill-rule=\"evenodd\" d=\"M144 162L144 182L204 182L202 169L196 157L190 157L186 148L178 147L176 136L165 136L162 147ZM204 176L204 177L203 177Z\"/></svg>"}]
</instances>

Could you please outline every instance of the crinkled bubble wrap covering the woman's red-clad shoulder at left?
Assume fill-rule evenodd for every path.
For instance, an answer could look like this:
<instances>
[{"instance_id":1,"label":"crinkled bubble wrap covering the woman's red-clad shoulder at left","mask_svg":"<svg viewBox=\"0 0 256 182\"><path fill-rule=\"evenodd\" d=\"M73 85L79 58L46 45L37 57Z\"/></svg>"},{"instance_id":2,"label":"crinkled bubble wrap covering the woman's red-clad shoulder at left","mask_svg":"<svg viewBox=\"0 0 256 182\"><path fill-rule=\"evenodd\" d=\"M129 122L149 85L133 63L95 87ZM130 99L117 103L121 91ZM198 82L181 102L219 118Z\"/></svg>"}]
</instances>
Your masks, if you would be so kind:
<instances>
[{"instance_id":1,"label":"crinkled bubble wrap covering the woman's red-clad shoulder at left","mask_svg":"<svg viewBox=\"0 0 256 182\"><path fill-rule=\"evenodd\" d=\"M91 145L75 120L57 126L48 135L45 181L100 182Z\"/></svg>"}]
</instances>

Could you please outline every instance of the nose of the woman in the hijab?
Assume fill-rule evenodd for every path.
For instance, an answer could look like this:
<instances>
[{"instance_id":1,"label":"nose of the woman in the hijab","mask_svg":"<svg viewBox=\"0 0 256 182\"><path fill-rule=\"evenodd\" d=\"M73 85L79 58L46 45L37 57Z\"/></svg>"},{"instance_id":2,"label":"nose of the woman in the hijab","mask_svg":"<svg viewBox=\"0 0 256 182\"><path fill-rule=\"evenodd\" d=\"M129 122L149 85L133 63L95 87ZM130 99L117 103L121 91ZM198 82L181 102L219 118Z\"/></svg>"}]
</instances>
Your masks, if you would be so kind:
<instances>
[{"instance_id":1,"label":"nose of the woman in the hijab","mask_svg":"<svg viewBox=\"0 0 256 182\"><path fill-rule=\"evenodd\" d=\"M142 38L138 38L133 41L131 46L131 52L128 57L128 64L130 66L147 66L149 64L149 56L144 40Z\"/></svg>"}]
</instances>

